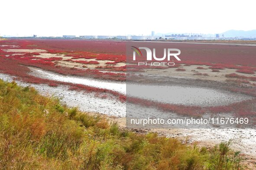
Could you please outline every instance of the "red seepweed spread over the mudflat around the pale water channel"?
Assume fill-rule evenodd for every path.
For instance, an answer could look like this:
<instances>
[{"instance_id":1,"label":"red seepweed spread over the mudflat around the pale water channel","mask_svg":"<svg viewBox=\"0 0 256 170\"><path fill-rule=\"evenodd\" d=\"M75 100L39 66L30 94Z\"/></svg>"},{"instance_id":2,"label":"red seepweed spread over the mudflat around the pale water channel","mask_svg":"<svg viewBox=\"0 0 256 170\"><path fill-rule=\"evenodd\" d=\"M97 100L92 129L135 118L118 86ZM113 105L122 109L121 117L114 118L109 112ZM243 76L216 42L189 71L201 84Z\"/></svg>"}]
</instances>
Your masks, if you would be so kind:
<instances>
[{"instance_id":1,"label":"red seepweed spread over the mudflat around the pale water channel","mask_svg":"<svg viewBox=\"0 0 256 170\"><path fill-rule=\"evenodd\" d=\"M49 53L52 54L64 54L66 56L72 57L72 59L68 59L65 61L71 62L90 62L90 61L80 61L77 59L95 59L99 60L109 60L111 62L107 62L106 64L114 65L114 63L126 62L125 56L125 43L124 42L117 42L115 45L110 45L110 41L81 41L81 40L72 40L70 43L69 40L6 40L1 41L1 43L9 43L9 44L18 44L21 49L32 49L35 47L40 49L45 49ZM175 45L175 44L174 44ZM182 44L185 47L191 47L191 44ZM255 51L252 48L248 48L247 50L250 51L250 54L243 58L234 57L236 55L232 52L232 50L224 49L223 47L217 47L220 52L228 52L233 53L223 56L214 56L211 53L211 45L202 45L204 46L205 50L209 50L209 56L200 55L200 54L190 54L186 55L188 57L183 57L181 61L175 61L175 66L169 67L162 67L159 66L157 69L168 69L168 68L178 68L178 70L182 70L179 68L181 64L185 64L187 66L190 65L200 65L200 66L209 66L212 69L212 72L219 69L237 69L237 72L241 72L241 70L246 70L246 72L254 72L256 71L256 60L255 60ZM228 47L227 47L228 48ZM247 47L244 47L247 48ZM2 48L3 49L3 48ZM65 51L63 51L65 49ZM186 48L185 48L186 49ZM238 51L239 51L238 47ZM186 50L183 51L183 54L186 54ZM204 52L205 53L205 52ZM17 54L17 55L13 55ZM0 62L3 63L0 65L0 70L3 73L10 74L16 76L17 79L30 82L30 83L44 83L50 86L56 85L68 85L71 90L84 90L88 92L100 92L103 94L110 94L114 97L119 98L121 101L126 100L126 96L123 94L119 94L115 91L108 91L106 89L99 89L99 88L91 88L85 85L75 85L71 83L65 82L58 82L58 81L51 81L48 79L40 79L34 76L29 75L29 69L26 66L34 66L44 70L49 70L53 72L57 72L63 75L74 75L74 76L88 76L93 77L96 79L108 79L108 80L115 80L115 81L125 81L126 77L123 73L113 73L113 72L101 72L100 69L108 71L136 71L136 72L143 72L143 69L149 69L150 66L142 66L138 67L135 65L129 66L98 66L96 69L77 69L77 68L68 68L65 66L56 66L56 63L53 61L62 60L61 57L52 57L50 59L43 59L38 56L39 53L13 53L13 52L4 52L0 49ZM6 55L13 55L6 57ZM37 55L37 56L36 56ZM236 60L232 60L235 58ZM74 60L77 61L74 61ZM96 62L97 62L96 61ZM94 61L95 62L95 61ZM86 63L87 64L87 63ZM94 64L94 63L88 63ZM95 63L96 64L96 63ZM202 67L203 68L203 67ZM239 71L240 70L240 71ZM249 71L248 71L249 70ZM185 71L185 70L184 70ZM245 73L245 71L243 71ZM246 73L248 74L248 73ZM250 74L250 73L249 73ZM200 76L204 76L204 74L198 73ZM207 75L205 75L207 76ZM247 83L248 81L256 81L256 77L253 76L240 76L235 73L226 75L228 78L239 78L245 80L229 80L231 82L241 82ZM229 91L242 93L251 95L256 97L255 88L230 88L227 89ZM101 95L99 95L101 96ZM156 104L149 102L149 101L141 101L141 99L133 98L132 102L138 102L142 104L152 104L152 106L157 107ZM247 102L247 104L246 104ZM250 105L251 104L251 105ZM159 107L162 107L164 110L174 111L181 115L195 115L200 116L204 113L224 113L224 112L233 112L237 114L243 113L253 113L252 105L255 104L255 100L249 100L245 102L240 102L236 104L231 104L227 106L219 106L219 107L190 107L190 106L182 106L182 105L169 105L169 104L159 104ZM243 110L239 110L239 108L243 108ZM238 111L239 110L239 111Z\"/></svg>"}]
</instances>

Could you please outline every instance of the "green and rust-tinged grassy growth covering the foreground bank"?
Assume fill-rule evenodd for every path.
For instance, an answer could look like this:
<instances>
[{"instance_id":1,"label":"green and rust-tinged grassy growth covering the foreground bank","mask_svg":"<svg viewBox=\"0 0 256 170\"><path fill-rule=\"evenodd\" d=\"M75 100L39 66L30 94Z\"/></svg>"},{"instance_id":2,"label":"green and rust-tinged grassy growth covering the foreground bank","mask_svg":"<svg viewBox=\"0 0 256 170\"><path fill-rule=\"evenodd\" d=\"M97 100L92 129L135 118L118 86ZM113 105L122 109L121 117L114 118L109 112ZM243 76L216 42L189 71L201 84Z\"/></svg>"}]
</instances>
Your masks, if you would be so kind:
<instances>
[{"instance_id":1,"label":"green and rust-tinged grassy growth covering the foreground bank","mask_svg":"<svg viewBox=\"0 0 256 170\"><path fill-rule=\"evenodd\" d=\"M121 130L34 88L0 80L0 169L238 170L239 152Z\"/></svg>"}]
</instances>

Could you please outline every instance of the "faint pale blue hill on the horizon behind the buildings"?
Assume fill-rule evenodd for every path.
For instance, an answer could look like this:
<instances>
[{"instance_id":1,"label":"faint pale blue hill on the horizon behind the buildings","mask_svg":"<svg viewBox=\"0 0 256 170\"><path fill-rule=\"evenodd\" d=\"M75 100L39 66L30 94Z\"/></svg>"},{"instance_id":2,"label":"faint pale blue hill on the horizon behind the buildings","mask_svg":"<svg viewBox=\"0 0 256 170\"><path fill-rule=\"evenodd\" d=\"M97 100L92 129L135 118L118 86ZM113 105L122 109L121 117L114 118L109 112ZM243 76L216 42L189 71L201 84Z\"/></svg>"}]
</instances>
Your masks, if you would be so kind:
<instances>
[{"instance_id":1,"label":"faint pale blue hill on the horizon behind the buildings","mask_svg":"<svg viewBox=\"0 0 256 170\"><path fill-rule=\"evenodd\" d=\"M256 38L256 30L243 31L243 30L229 30L221 33L224 37L246 37L246 38Z\"/></svg>"}]
</instances>

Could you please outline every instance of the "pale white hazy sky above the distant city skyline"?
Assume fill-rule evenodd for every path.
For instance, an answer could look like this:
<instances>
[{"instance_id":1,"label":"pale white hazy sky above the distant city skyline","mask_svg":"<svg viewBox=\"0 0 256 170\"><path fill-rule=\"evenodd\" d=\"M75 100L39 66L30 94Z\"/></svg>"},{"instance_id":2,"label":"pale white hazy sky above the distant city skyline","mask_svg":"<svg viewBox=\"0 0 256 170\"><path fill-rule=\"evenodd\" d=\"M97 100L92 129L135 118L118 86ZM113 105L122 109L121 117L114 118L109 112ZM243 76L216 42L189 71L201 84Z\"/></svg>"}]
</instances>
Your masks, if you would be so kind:
<instances>
[{"instance_id":1,"label":"pale white hazy sky above the distant city skyline","mask_svg":"<svg viewBox=\"0 0 256 170\"><path fill-rule=\"evenodd\" d=\"M255 0L1 0L0 35L215 34L253 30Z\"/></svg>"}]
</instances>

